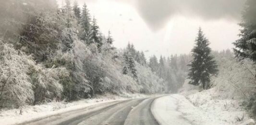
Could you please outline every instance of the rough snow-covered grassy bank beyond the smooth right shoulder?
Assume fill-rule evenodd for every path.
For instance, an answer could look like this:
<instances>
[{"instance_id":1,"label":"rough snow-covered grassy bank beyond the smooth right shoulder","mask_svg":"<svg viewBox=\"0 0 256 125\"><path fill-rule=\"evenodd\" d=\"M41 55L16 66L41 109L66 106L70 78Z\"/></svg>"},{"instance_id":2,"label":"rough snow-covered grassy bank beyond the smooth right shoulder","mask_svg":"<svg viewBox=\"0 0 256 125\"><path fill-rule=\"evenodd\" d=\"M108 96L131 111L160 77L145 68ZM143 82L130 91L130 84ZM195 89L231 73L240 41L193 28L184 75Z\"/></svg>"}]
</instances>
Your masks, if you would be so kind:
<instances>
[{"instance_id":1,"label":"rough snow-covered grassy bank beyond the smooth right shoulder","mask_svg":"<svg viewBox=\"0 0 256 125\"><path fill-rule=\"evenodd\" d=\"M191 103L195 108L202 111L201 115L205 117L207 123L212 121L218 122L218 125L237 125L249 119L244 107L241 106L243 100L221 99L214 96L216 94L215 88L201 92L197 91L193 94L186 95L186 99L188 100L180 101L180 104L181 106L185 106L187 103ZM185 97L183 96L183 98ZM189 111L189 107L187 107L187 111L184 108L181 111L186 113L185 117L189 120L198 119L193 113L194 111ZM199 119L201 119L200 117ZM214 123L211 125L214 125Z\"/></svg>"}]
</instances>

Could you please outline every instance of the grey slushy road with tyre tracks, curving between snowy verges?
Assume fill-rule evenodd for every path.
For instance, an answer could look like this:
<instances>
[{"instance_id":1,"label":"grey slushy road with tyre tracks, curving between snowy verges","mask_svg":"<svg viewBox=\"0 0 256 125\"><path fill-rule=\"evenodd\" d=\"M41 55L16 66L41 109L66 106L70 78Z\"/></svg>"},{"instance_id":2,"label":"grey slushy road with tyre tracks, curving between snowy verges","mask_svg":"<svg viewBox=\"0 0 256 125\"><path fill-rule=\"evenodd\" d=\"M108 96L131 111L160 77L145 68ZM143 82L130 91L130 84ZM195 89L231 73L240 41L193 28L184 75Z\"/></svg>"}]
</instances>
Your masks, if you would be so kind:
<instances>
[{"instance_id":1,"label":"grey slushy road with tyre tracks, curving between snowy verges","mask_svg":"<svg viewBox=\"0 0 256 125\"><path fill-rule=\"evenodd\" d=\"M20 125L159 125L150 110L156 98L102 103Z\"/></svg>"}]
</instances>

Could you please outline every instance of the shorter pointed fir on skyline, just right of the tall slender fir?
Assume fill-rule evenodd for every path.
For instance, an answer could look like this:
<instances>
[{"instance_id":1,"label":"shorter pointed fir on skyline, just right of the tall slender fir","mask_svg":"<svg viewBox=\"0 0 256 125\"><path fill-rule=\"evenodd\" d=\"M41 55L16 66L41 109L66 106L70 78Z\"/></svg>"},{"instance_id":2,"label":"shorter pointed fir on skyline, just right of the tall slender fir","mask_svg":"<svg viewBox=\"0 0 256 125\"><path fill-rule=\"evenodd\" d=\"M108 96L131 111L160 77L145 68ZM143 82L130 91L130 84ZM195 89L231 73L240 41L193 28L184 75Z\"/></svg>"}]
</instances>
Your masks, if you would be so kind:
<instances>
[{"instance_id":1,"label":"shorter pointed fir on skyline, just right of the tall slender fir","mask_svg":"<svg viewBox=\"0 0 256 125\"><path fill-rule=\"evenodd\" d=\"M97 25L97 21L95 17L93 18L92 27L91 27L91 39L90 42L95 43L100 50L100 47L103 45L101 41L101 36L99 34L99 27Z\"/></svg>"}]
</instances>

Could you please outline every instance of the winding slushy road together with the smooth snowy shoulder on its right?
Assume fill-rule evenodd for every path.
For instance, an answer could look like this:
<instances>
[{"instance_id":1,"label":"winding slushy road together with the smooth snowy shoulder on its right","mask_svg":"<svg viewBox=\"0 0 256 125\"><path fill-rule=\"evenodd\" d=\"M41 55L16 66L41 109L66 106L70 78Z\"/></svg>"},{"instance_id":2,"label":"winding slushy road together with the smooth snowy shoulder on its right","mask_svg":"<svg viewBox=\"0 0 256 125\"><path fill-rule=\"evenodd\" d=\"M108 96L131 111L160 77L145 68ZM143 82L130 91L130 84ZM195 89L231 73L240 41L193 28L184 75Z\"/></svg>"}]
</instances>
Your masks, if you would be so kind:
<instances>
[{"instance_id":1,"label":"winding slushy road together with the smooth snowy shoulder on its right","mask_svg":"<svg viewBox=\"0 0 256 125\"><path fill-rule=\"evenodd\" d=\"M191 125L172 96L101 103L21 125Z\"/></svg>"}]
</instances>

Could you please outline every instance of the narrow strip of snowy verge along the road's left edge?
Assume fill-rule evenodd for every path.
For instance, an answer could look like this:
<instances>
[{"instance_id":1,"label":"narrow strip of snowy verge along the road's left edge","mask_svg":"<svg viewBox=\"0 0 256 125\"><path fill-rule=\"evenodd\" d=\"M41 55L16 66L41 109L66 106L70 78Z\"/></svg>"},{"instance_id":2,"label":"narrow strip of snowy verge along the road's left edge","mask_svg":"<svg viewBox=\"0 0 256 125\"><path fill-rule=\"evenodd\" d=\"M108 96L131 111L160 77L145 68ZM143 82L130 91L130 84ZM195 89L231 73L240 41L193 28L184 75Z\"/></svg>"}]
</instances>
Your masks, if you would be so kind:
<instances>
[{"instance_id":1,"label":"narrow strip of snowy verge along the road's left edge","mask_svg":"<svg viewBox=\"0 0 256 125\"><path fill-rule=\"evenodd\" d=\"M106 102L121 101L130 98L145 98L142 94L122 94L120 96L106 94L97 96L94 99L83 99L74 102L49 102L42 105L24 106L19 109L1 110L0 125L14 125L26 121L36 120L38 118L48 117L55 114L61 114L68 111L83 109L87 106L101 104ZM20 110L22 109L22 115Z\"/></svg>"}]
</instances>

